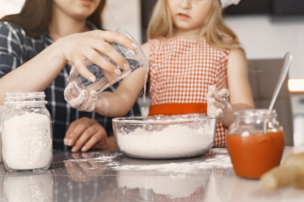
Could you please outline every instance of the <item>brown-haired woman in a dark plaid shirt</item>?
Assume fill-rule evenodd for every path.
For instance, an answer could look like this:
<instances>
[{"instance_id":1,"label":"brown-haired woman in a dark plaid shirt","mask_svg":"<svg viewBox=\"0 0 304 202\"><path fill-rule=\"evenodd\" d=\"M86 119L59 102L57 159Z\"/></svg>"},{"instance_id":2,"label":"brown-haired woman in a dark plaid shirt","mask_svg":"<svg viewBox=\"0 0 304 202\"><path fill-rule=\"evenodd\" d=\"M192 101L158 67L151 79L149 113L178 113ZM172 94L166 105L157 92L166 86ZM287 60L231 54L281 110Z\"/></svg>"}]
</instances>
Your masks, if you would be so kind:
<instances>
[{"instance_id":1,"label":"brown-haired woman in a dark plaid shirt","mask_svg":"<svg viewBox=\"0 0 304 202\"><path fill-rule=\"evenodd\" d=\"M72 152L101 149L106 146L107 132L112 131L111 119L94 111L71 109L63 94L72 65L85 78L95 79L85 68L86 59L120 74L96 50L123 69L130 68L106 41L131 49L137 48L135 43L118 32L97 30L101 28L104 5L105 0L26 0L19 14L0 20L0 104L7 92L45 91L53 123L54 149L63 149L64 144L66 149L72 146ZM129 115L139 115L138 107ZM82 138L65 139L63 144L66 131Z\"/></svg>"}]
</instances>

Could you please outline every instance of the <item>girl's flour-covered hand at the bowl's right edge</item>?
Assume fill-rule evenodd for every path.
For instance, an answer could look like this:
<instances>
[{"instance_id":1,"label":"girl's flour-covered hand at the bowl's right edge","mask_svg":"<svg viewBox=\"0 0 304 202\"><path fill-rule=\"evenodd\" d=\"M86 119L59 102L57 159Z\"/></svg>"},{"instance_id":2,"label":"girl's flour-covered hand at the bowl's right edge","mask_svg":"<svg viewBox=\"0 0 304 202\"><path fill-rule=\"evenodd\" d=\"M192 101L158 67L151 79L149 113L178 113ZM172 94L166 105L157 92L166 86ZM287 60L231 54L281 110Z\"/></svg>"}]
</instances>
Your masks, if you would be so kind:
<instances>
[{"instance_id":1,"label":"girl's flour-covered hand at the bowl's right edge","mask_svg":"<svg viewBox=\"0 0 304 202\"><path fill-rule=\"evenodd\" d=\"M209 86L207 93L207 115L216 116L218 120L226 125L233 116L233 110L228 100L229 91ZM233 117L232 117L233 118Z\"/></svg>"}]
</instances>

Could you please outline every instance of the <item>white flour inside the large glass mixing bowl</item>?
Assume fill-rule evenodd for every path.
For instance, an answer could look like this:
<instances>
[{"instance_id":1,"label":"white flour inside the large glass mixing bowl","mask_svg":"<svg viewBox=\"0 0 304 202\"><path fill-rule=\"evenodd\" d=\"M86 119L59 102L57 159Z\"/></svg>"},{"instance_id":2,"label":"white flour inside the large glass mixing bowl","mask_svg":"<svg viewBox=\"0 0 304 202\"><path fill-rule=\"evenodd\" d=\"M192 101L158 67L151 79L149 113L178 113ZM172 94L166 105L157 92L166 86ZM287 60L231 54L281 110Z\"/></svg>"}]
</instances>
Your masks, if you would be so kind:
<instances>
[{"instance_id":1,"label":"white flour inside the large glass mixing bowl","mask_svg":"<svg viewBox=\"0 0 304 202\"><path fill-rule=\"evenodd\" d=\"M212 146L213 132L210 124L197 129L172 124L161 131L137 127L127 134L121 128L117 131L117 142L121 152L134 157L186 157L207 152Z\"/></svg>"}]
</instances>

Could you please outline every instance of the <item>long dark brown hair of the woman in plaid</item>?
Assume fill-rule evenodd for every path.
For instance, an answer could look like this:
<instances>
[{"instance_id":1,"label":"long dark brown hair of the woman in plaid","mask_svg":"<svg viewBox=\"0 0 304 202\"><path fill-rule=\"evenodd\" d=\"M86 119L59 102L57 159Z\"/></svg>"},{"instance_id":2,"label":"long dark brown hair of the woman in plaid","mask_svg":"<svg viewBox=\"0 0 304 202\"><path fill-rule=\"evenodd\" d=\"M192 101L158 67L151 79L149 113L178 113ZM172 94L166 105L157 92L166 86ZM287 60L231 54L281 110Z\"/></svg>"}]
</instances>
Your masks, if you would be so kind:
<instances>
[{"instance_id":1,"label":"long dark brown hair of the woman in plaid","mask_svg":"<svg viewBox=\"0 0 304 202\"><path fill-rule=\"evenodd\" d=\"M101 12L106 0L101 0L98 8L87 18L101 28ZM20 13L2 17L1 21L14 22L32 37L38 37L48 30L51 22L52 0L26 0Z\"/></svg>"}]
</instances>

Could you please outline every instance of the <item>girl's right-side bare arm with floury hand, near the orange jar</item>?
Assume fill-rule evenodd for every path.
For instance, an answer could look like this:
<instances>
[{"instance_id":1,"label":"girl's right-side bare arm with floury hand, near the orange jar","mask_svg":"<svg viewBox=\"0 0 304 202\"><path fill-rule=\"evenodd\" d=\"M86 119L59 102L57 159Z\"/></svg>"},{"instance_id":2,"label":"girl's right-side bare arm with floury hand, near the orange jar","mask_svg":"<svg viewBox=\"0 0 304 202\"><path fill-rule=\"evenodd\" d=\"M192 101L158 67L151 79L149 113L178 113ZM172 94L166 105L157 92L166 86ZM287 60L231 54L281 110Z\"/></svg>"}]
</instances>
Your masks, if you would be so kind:
<instances>
[{"instance_id":1,"label":"girl's right-side bare arm with floury hand, near the orange jar","mask_svg":"<svg viewBox=\"0 0 304 202\"><path fill-rule=\"evenodd\" d=\"M218 91L214 86L209 87L207 114L217 116L222 124L230 126L234 121L234 111L254 108L248 79L247 60L244 52L238 48L233 48L230 51L227 78L229 91L226 89Z\"/></svg>"}]
</instances>

